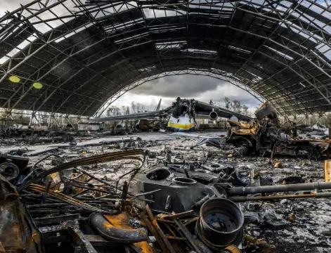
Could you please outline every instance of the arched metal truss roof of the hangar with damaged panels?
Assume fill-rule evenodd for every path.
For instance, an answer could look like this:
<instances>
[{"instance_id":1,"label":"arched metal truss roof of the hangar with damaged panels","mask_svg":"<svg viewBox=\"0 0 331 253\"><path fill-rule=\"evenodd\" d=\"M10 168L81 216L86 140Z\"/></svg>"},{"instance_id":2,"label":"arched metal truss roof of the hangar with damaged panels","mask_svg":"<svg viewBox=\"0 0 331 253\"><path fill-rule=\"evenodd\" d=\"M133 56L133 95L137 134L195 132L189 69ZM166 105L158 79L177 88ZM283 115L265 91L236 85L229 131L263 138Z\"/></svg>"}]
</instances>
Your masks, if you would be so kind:
<instances>
[{"instance_id":1,"label":"arched metal truss roof of the hangar with damaged panels","mask_svg":"<svg viewBox=\"0 0 331 253\"><path fill-rule=\"evenodd\" d=\"M33 1L0 18L0 107L98 116L148 79L205 74L283 115L331 111L329 3Z\"/></svg>"}]
</instances>

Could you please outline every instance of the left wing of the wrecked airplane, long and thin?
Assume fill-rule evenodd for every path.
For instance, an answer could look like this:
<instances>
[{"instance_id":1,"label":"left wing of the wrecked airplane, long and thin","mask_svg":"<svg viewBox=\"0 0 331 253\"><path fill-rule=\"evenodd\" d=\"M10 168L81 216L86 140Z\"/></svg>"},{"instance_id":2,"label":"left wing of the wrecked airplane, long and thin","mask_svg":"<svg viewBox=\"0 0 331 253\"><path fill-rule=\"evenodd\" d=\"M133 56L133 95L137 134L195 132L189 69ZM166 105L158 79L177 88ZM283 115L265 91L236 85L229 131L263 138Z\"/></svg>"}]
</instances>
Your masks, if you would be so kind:
<instances>
[{"instance_id":1,"label":"left wing of the wrecked airplane, long and thin","mask_svg":"<svg viewBox=\"0 0 331 253\"><path fill-rule=\"evenodd\" d=\"M168 116L168 113L164 110L153 111L153 112L140 112L131 115L117 115L112 117L103 117L96 119L89 119L90 122L118 122L121 120L138 120L138 119L152 119L155 117Z\"/></svg>"}]
</instances>

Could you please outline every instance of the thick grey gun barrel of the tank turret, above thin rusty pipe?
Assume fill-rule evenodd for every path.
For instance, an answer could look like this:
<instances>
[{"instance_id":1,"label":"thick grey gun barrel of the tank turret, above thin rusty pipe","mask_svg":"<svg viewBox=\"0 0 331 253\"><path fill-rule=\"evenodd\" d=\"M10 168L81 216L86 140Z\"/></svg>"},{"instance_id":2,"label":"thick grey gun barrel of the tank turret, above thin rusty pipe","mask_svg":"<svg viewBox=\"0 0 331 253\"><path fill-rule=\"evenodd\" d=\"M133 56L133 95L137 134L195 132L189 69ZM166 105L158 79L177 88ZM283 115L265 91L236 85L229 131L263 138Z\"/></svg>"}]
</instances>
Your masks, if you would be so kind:
<instances>
[{"instance_id":1,"label":"thick grey gun barrel of the tank turret, above thin rusty pipe","mask_svg":"<svg viewBox=\"0 0 331 253\"><path fill-rule=\"evenodd\" d=\"M314 183L296 183L279 186L248 186L248 187L233 187L226 191L228 196L247 195L255 193L281 193L298 190L323 190L331 189L331 182L314 182Z\"/></svg>"}]
</instances>

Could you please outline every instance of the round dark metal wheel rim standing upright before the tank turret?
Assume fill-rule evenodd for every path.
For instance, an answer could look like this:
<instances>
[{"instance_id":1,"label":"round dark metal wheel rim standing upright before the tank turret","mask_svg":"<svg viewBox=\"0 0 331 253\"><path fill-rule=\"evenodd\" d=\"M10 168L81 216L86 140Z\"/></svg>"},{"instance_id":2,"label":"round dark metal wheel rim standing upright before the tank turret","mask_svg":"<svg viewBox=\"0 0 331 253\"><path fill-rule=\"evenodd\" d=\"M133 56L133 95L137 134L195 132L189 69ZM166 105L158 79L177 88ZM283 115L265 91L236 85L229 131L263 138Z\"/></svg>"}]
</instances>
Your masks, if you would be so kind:
<instances>
[{"instance_id":1,"label":"round dark metal wheel rim standing upright before the tank turret","mask_svg":"<svg viewBox=\"0 0 331 253\"><path fill-rule=\"evenodd\" d=\"M231 245L238 237L244 215L231 200L212 198L202 205L197 222L197 234L202 242L213 248L221 248Z\"/></svg>"}]
</instances>

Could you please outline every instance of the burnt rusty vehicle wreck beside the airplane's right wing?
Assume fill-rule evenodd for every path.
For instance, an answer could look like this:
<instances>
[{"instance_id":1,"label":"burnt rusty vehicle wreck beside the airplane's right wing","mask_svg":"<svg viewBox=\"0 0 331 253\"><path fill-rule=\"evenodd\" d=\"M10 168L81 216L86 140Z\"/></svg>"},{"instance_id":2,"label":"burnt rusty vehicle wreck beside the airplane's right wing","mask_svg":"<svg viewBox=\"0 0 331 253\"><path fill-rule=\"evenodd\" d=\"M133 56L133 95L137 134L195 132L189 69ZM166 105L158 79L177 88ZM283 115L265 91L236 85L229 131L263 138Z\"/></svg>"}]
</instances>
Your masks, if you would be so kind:
<instances>
[{"instance_id":1,"label":"burnt rusty vehicle wreck beside the airplane's right wing","mask_svg":"<svg viewBox=\"0 0 331 253\"><path fill-rule=\"evenodd\" d=\"M310 158L320 159L328 156L329 139L309 139L297 136L297 127L284 131L280 126L278 113L269 104L264 103L255 111L255 117L250 124L238 119L229 119L231 128L228 130L227 143L244 145L245 154L262 154L266 151L274 155L299 155L304 153Z\"/></svg>"}]
</instances>

